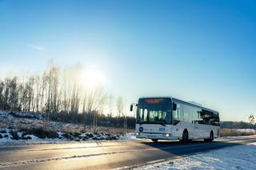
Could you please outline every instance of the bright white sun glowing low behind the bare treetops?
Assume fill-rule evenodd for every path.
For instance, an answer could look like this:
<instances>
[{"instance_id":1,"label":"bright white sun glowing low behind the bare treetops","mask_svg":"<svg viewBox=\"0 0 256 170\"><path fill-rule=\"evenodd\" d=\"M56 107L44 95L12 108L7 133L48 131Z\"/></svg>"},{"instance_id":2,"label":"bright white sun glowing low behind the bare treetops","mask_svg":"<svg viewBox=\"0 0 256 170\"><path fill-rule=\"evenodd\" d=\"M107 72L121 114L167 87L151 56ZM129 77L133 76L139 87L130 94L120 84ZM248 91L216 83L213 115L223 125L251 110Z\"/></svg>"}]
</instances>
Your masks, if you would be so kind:
<instances>
[{"instance_id":1,"label":"bright white sun glowing low behind the bare treetops","mask_svg":"<svg viewBox=\"0 0 256 170\"><path fill-rule=\"evenodd\" d=\"M106 76L100 69L96 68L83 69L79 79L83 86L90 88L106 83Z\"/></svg>"}]
</instances>

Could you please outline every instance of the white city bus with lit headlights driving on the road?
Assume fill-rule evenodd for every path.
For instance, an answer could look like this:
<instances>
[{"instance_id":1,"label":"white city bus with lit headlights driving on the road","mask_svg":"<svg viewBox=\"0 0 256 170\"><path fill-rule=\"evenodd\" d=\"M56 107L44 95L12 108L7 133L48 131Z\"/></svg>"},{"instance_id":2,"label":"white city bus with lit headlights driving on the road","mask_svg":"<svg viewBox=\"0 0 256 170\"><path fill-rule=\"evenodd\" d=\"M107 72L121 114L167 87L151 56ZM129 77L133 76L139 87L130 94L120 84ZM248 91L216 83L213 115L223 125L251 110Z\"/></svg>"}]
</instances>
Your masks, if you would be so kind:
<instances>
[{"instance_id":1,"label":"white city bus with lit headlights driving on the road","mask_svg":"<svg viewBox=\"0 0 256 170\"><path fill-rule=\"evenodd\" d=\"M217 111L174 97L141 97L136 105L136 137L158 140L203 139L219 137Z\"/></svg>"}]
</instances>

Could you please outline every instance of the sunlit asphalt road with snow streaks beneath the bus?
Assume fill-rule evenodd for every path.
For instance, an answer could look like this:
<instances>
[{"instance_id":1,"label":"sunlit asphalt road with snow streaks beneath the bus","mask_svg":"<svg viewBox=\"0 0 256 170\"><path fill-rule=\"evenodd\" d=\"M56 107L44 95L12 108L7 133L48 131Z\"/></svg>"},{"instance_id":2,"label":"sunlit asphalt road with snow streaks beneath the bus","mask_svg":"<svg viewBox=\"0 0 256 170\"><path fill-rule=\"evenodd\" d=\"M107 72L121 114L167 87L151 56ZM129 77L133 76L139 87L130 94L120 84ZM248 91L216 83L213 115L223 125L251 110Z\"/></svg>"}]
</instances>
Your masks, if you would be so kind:
<instances>
[{"instance_id":1,"label":"sunlit asphalt road with snow streaks beneath the bus","mask_svg":"<svg viewBox=\"0 0 256 170\"><path fill-rule=\"evenodd\" d=\"M182 144L178 141L97 141L72 144L33 144L0 147L1 169L133 168L179 156L256 142L256 136Z\"/></svg>"}]
</instances>

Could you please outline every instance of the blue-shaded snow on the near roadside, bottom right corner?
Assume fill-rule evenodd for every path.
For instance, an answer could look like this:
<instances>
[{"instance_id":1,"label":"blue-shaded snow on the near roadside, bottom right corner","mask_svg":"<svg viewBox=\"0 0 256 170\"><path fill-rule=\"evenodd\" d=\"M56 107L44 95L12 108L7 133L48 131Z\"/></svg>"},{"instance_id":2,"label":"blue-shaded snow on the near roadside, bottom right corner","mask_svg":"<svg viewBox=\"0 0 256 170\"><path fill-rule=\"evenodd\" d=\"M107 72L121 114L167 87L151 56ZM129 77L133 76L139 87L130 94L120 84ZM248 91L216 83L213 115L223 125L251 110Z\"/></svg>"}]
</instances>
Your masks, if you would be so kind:
<instances>
[{"instance_id":1,"label":"blue-shaded snow on the near roadside, bottom right corner","mask_svg":"<svg viewBox=\"0 0 256 170\"><path fill-rule=\"evenodd\" d=\"M256 143L220 148L136 169L256 169Z\"/></svg>"}]
</instances>

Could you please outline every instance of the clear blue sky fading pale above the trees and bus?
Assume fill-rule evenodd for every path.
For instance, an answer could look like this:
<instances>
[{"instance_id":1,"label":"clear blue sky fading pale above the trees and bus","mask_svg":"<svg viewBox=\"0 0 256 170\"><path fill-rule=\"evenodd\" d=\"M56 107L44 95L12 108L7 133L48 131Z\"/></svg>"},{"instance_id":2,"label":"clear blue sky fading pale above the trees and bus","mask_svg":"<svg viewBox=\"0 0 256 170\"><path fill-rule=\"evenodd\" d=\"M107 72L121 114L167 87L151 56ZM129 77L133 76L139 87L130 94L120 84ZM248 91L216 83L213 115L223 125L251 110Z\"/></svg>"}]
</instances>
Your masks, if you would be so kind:
<instances>
[{"instance_id":1,"label":"clear blue sky fading pale above the trees and bus","mask_svg":"<svg viewBox=\"0 0 256 170\"><path fill-rule=\"evenodd\" d=\"M126 105L164 95L222 121L256 114L255 1L0 0L0 75L50 58L97 65Z\"/></svg>"}]
</instances>

